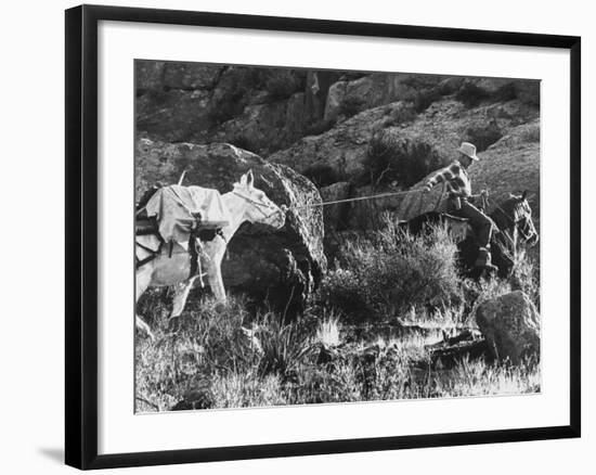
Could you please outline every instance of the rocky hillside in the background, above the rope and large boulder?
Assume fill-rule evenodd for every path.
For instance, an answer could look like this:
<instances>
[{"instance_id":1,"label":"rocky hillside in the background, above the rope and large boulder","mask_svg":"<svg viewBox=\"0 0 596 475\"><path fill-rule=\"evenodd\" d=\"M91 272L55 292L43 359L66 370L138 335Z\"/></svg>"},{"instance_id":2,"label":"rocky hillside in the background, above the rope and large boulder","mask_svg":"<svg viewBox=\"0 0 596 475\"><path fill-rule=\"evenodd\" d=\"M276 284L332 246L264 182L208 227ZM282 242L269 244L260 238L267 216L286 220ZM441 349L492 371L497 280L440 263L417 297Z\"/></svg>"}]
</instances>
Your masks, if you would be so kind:
<instances>
[{"instance_id":1,"label":"rocky hillside in the background, above the rope and large boulder","mask_svg":"<svg viewBox=\"0 0 596 475\"><path fill-rule=\"evenodd\" d=\"M528 190L540 216L539 81L147 61L135 73L139 140L231 143L326 201L407 190L469 141L474 191ZM326 228L374 227L400 200L326 208Z\"/></svg>"}]
</instances>

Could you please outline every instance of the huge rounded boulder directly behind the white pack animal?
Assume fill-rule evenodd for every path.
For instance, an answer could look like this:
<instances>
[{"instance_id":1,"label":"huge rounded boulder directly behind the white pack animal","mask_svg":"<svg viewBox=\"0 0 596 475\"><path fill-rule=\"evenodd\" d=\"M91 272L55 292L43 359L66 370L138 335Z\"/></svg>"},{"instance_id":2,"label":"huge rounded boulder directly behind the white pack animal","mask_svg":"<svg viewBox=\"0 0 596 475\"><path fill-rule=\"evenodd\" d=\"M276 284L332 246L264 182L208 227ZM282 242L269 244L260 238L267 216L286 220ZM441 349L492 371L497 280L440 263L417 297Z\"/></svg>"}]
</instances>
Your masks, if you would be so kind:
<instances>
[{"instance_id":1,"label":"huge rounded boulder directly behind the white pack animal","mask_svg":"<svg viewBox=\"0 0 596 475\"><path fill-rule=\"evenodd\" d=\"M320 203L321 195L308 179L225 143L198 145L140 139L134 164L137 200L157 181L178 182L183 170L184 184L226 193L242 174L251 169L255 185L290 210L281 230L249 223L241 227L222 264L224 285L228 291L246 293L257 301L268 300L289 313L303 308L326 268L321 207L305 207Z\"/></svg>"}]
</instances>

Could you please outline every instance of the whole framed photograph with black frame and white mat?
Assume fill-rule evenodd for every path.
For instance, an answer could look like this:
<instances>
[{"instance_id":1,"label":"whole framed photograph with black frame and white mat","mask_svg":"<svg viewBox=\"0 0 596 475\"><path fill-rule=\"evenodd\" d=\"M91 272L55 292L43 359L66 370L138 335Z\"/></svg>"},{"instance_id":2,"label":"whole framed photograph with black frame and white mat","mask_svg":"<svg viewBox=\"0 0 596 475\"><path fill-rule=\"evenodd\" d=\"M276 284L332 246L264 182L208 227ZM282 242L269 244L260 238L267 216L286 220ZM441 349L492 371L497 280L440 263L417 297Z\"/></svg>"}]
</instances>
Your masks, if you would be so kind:
<instances>
[{"instance_id":1,"label":"whole framed photograph with black frame and white mat","mask_svg":"<svg viewBox=\"0 0 596 475\"><path fill-rule=\"evenodd\" d=\"M66 463L580 436L580 38L66 11Z\"/></svg>"}]
</instances>

